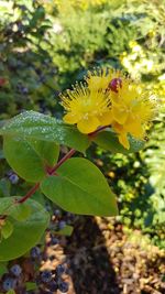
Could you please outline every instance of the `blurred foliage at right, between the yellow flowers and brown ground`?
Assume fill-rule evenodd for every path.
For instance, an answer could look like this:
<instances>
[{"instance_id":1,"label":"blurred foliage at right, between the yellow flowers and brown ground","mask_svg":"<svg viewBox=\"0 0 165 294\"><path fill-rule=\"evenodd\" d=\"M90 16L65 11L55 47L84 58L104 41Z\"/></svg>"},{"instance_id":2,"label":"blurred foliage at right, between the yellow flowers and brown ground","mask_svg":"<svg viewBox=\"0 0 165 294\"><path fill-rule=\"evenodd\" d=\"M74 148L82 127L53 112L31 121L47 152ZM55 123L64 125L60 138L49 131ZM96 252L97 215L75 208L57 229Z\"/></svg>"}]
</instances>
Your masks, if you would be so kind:
<instances>
[{"instance_id":1,"label":"blurred foliage at right, between the yellow flowers and brown ground","mask_svg":"<svg viewBox=\"0 0 165 294\"><path fill-rule=\"evenodd\" d=\"M164 130L165 109L162 109L143 151L125 156L99 149L95 159L119 197L119 220L142 230L161 248L165 248Z\"/></svg>"}]
</instances>

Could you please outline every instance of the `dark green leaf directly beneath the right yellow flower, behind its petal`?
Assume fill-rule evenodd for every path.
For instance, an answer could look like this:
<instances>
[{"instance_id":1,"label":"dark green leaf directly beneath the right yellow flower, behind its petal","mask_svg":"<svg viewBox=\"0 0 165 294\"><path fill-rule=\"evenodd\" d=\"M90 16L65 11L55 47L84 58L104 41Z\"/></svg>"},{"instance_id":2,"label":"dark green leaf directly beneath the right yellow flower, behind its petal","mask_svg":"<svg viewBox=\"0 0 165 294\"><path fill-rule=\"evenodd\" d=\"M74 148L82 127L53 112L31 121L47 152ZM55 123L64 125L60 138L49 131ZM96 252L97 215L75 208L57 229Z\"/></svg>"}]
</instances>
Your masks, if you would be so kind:
<instances>
[{"instance_id":1,"label":"dark green leaf directly beneath the right yellow flower, behind its petal","mask_svg":"<svg viewBox=\"0 0 165 294\"><path fill-rule=\"evenodd\" d=\"M144 141L136 140L133 137L129 135L130 149L127 150L120 144L118 135L111 130L98 133L92 139L92 141L97 143L99 146L101 146L102 149L111 151L112 153L129 154L129 153L138 152L144 148Z\"/></svg>"}]
</instances>

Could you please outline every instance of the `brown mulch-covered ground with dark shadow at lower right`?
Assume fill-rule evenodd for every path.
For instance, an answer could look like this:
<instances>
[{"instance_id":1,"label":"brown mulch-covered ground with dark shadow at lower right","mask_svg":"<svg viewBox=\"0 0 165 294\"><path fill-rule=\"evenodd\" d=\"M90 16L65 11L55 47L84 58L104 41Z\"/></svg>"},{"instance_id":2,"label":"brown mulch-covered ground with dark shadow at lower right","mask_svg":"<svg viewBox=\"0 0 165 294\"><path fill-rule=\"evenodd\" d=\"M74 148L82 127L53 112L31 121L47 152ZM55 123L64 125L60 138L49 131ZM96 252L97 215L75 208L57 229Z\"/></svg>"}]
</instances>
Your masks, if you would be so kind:
<instances>
[{"instance_id":1,"label":"brown mulch-covered ground with dark shadow at lower right","mask_svg":"<svg viewBox=\"0 0 165 294\"><path fill-rule=\"evenodd\" d=\"M165 252L140 231L125 235L108 218L80 217L74 233L47 249L42 269L66 261L68 294L164 294Z\"/></svg>"}]
</instances>

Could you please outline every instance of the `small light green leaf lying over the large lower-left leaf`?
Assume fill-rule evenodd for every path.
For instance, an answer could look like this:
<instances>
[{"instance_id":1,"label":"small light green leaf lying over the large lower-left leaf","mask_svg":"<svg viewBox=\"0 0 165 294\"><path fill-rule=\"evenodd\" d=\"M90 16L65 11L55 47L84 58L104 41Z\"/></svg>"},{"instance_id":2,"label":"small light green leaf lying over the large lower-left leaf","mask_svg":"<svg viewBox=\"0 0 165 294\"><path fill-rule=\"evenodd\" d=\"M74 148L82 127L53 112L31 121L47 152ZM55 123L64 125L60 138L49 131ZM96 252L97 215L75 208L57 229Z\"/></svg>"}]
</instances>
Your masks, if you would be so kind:
<instances>
[{"instance_id":1,"label":"small light green leaf lying over the large lower-left leaf","mask_svg":"<svg viewBox=\"0 0 165 294\"><path fill-rule=\"evenodd\" d=\"M18 221L25 220L30 217L32 213L31 206L28 203L14 204L10 209L8 215Z\"/></svg>"}]
</instances>

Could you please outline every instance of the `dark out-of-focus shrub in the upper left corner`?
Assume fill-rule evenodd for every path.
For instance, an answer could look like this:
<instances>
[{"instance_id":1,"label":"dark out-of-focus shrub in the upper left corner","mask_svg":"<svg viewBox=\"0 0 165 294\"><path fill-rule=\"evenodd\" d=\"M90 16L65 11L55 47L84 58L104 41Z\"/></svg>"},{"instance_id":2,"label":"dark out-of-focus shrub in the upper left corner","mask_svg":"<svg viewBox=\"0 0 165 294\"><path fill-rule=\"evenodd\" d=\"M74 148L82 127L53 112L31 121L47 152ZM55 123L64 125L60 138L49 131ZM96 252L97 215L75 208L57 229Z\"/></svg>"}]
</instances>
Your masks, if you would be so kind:
<instances>
[{"instance_id":1,"label":"dark out-of-focus shrub in the upper left corner","mask_svg":"<svg viewBox=\"0 0 165 294\"><path fill-rule=\"evenodd\" d=\"M50 28L45 11L40 6L35 9L31 1L25 4L10 1L9 6L2 2L0 116L6 119L24 108L45 111L46 105L51 110L51 105L56 104L54 97L58 87L55 85L56 68L48 52L40 46Z\"/></svg>"}]
</instances>

